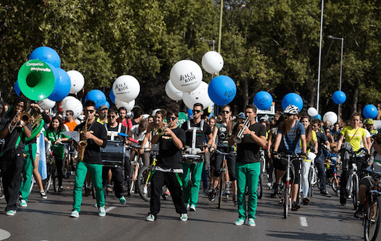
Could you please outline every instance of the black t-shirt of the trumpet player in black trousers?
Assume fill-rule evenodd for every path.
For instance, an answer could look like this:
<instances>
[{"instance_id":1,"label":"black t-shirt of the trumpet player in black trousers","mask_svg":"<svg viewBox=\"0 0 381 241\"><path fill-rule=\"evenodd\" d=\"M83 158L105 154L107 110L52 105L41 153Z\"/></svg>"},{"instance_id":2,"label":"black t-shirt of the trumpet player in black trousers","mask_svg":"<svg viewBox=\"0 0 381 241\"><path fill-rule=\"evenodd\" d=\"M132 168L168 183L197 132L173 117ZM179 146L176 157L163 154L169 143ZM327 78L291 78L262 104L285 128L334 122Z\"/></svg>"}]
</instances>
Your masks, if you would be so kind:
<instances>
[{"instance_id":1,"label":"black t-shirt of the trumpet player in black trousers","mask_svg":"<svg viewBox=\"0 0 381 241\"><path fill-rule=\"evenodd\" d=\"M181 143L185 145L185 132L180 128L172 129ZM163 169L182 168L181 149L177 148L170 136L160 136L159 138L159 155L157 157L157 166Z\"/></svg>"}]
</instances>

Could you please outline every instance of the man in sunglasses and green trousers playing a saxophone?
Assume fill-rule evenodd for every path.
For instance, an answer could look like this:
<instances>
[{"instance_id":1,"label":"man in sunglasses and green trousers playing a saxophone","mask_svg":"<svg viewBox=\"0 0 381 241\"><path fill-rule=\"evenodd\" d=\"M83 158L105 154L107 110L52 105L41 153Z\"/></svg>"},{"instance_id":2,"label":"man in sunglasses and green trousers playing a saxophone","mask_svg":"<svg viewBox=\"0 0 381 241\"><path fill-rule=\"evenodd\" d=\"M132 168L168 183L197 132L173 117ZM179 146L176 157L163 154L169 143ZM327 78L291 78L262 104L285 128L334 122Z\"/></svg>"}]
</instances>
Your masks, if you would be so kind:
<instances>
[{"instance_id":1,"label":"man in sunglasses and green trousers playing a saxophone","mask_svg":"<svg viewBox=\"0 0 381 241\"><path fill-rule=\"evenodd\" d=\"M73 190L73 210L71 217L80 216L80 205L82 203L82 186L85 182L87 171L91 174L91 181L96 190L96 204L98 206L98 215L103 217L105 211L105 195L102 185L102 158L100 157L100 147L107 145L107 132L105 126L95 121L95 102L87 100L85 102L85 121L76 126L75 131L80 131L80 141L86 141L85 155L82 161L78 161L76 167L76 184ZM84 127L87 124L87 131ZM80 151L78 151L80 156ZM79 158L80 159L80 158Z\"/></svg>"}]
</instances>

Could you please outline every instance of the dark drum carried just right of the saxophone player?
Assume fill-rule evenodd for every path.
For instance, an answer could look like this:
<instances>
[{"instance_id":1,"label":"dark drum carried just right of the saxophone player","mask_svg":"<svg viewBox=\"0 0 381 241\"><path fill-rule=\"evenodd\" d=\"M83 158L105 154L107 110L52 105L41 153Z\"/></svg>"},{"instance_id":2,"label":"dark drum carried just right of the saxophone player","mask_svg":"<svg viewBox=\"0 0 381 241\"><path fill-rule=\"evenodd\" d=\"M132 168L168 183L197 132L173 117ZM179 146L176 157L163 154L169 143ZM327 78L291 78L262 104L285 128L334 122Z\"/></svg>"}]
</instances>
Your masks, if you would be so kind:
<instances>
[{"instance_id":1,"label":"dark drum carried just right of the saxophone player","mask_svg":"<svg viewBox=\"0 0 381 241\"><path fill-rule=\"evenodd\" d=\"M123 166L125 159L125 143L123 141L107 141L105 148L100 148L103 166L116 168Z\"/></svg>"}]
</instances>

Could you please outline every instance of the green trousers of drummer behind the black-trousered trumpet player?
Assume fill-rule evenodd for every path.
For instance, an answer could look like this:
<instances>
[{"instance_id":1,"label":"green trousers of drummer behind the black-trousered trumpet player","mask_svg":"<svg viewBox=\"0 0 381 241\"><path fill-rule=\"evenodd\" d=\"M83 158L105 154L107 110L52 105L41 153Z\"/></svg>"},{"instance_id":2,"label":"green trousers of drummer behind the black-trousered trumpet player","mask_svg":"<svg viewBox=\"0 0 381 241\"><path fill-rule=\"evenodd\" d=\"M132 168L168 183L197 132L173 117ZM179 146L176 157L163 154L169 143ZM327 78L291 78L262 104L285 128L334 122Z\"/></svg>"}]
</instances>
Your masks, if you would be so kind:
<instances>
[{"instance_id":1,"label":"green trousers of drummer behind the black-trousered trumpet player","mask_svg":"<svg viewBox=\"0 0 381 241\"><path fill-rule=\"evenodd\" d=\"M202 167L204 163L188 164L183 163L183 192L184 202L189 205L197 205L198 193L200 192L200 183L202 175ZM190 172L192 177L189 180Z\"/></svg>"}]
</instances>

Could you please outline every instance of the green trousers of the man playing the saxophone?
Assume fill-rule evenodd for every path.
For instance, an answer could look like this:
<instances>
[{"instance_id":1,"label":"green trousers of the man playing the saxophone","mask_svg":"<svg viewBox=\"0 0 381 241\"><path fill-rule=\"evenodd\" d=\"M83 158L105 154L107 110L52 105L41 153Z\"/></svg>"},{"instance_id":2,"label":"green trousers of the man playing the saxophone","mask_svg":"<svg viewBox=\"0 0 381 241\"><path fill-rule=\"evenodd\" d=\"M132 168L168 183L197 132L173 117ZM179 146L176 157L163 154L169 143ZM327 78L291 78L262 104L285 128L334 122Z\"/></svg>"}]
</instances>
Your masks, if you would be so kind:
<instances>
[{"instance_id":1,"label":"green trousers of the man playing the saxophone","mask_svg":"<svg viewBox=\"0 0 381 241\"><path fill-rule=\"evenodd\" d=\"M98 207L105 206L105 195L103 194L102 186L102 164L89 164L80 161L77 163L76 168L76 183L73 190L73 211L80 212L80 205L82 203L82 186L85 183L87 170L91 174L91 181L93 182L96 190L96 204Z\"/></svg>"}]
</instances>

